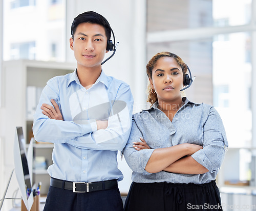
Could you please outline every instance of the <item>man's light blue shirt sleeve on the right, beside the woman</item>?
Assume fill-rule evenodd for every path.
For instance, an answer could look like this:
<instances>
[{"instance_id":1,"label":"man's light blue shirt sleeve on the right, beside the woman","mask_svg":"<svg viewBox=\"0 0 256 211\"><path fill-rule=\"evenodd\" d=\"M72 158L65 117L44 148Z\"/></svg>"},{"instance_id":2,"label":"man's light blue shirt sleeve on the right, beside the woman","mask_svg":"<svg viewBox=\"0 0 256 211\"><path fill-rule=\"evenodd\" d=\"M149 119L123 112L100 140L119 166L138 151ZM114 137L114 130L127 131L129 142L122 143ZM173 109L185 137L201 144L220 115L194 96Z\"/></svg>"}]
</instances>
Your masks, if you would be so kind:
<instances>
[{"instance_id":1,"label":"man's light blue shirt sleeve on the right, beside the woman","mask_svg":"<svg viewBox=\"0 0 256 211\"><path fill-rule=\"evenodd\" d=\"M130 135L132 112L133 96L130 86L122 83L112 104L108 127L75 138L73 145L81 149L121 151Z\"/></svg>"}]
</instances>

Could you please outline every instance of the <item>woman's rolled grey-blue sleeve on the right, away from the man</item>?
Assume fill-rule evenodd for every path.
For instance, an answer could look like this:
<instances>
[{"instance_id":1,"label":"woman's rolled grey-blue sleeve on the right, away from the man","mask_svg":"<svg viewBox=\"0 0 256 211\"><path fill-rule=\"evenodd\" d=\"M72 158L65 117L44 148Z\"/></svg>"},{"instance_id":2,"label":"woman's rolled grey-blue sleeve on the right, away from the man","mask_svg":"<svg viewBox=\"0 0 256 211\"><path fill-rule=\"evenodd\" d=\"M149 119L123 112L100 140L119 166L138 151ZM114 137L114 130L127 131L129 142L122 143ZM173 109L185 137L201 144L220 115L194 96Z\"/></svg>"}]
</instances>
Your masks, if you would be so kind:
<instances>
[{"instance_id":1,"label":"woman's rolled grey-blue sleeve on the right, away from the man","mask_svg":"<svg viewBox=\"0 0 256 211\"><path fill-rule=\"evenodd\" d=\"M225 146L228 147L228 143L221 117L211 107L203 125L203 149L191 156L210 173L216 172L224 160Z\"/></svg>"}]
</instances>

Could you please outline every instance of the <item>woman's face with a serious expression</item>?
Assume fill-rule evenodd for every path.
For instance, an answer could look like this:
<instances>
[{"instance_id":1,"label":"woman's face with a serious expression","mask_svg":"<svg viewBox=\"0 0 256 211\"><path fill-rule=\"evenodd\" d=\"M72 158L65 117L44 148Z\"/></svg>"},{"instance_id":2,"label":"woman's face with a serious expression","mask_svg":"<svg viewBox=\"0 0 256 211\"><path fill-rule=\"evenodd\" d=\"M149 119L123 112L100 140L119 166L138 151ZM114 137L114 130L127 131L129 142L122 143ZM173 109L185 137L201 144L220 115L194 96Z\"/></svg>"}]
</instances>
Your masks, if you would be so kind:
<instances>
[{"instance_id":1,"label":"woman's face with a serious expression","mask_svg":"<svg viewBox=\"0 0 256 211\"><path fill-rule=\"evenodd\" d=\"M161 57L152 70L151 87L156 91L158 101L173 101L181 98L183 72L172 57Z\"/></svg>"}]
</instances>

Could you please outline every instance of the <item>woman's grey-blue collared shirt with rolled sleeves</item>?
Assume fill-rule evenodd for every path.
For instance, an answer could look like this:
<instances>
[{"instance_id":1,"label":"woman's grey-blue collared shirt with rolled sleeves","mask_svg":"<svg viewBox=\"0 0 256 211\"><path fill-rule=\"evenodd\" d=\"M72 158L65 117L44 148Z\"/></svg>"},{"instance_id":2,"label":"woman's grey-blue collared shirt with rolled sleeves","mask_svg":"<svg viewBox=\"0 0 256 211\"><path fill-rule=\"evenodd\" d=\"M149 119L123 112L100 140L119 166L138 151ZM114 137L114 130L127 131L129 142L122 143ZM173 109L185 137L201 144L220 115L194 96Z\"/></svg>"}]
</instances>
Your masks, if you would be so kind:
<instances>
[{"instance_id":1,"label":"woman's grey-blue collared shirt with rolled sleeves","mask_svg":"<svg viewBox=\"0 0 256 211\"><path fill-rule=\"evenodd\" d=\"M208 183L216 178L228 147L222 120L214 107L185 100L171 122L159 110L158 102L142 112L134 114L129 141L123 150L127 164L133 170L135 182ZM151 149L137 151L133 142L142 137ZM166 171L148 173L145 170L151 154L156 148L182 143L198 144L203 149L191 155L209 170L205 174L177 174ZM169 156L172 156L171 154Z\"/></svg>"}]
</instances>

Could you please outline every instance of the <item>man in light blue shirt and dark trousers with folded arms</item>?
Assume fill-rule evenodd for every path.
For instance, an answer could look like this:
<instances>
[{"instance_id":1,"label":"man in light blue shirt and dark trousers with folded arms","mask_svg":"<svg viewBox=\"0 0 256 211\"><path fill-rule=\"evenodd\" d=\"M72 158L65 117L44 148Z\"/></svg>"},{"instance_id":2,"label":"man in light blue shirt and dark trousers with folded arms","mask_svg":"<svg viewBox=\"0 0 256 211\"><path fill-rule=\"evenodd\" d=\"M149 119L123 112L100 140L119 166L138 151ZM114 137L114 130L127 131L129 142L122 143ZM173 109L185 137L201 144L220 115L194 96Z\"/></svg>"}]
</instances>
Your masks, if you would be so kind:
<instances>
[{"instance_id":1,"label":"man in light blue shirt and dark trousers with folded arms","mask_svg":"<svg viewBox=\"0 0 256 211\"><path fill-rule=\"evenodd\" d=\"M44 210L123 210L117 150L129 138L133 97L129 85L101 69L111 31L96 12L78 15L70 38L77 69L42 91L33 133L36 141L54 143Z\"/></svg>"}]
</instances>

